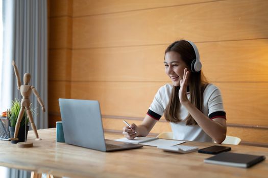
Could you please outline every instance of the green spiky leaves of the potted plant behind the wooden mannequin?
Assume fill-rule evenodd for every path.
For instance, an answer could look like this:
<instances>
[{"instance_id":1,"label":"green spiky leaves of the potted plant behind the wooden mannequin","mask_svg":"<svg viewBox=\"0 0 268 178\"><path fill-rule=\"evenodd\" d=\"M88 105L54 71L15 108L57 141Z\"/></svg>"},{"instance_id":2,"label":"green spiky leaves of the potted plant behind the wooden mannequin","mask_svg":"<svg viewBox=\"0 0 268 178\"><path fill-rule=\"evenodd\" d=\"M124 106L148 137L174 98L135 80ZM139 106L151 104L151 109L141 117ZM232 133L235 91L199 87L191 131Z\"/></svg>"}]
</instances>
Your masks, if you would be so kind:
<instances>
[{"instance_id":1,"label":"green spiky leaves of the potted plant behind the wooden mannequin","mask_svg":"<svg viewBox=\"0 0 268 178\"><path fill-rule=\"evenodd\" d=\"M31 103L31 105L32 105L32 103ZM7 117L9 119L9 121L10 121L10 126L11 127L16 126L20 108L21 108L21 105L20 105L20 102L19 102L18 99L15 99L14 101L12 101L11 108L7 112ZM36 109L31 108L31 111L32 111L32 115L34 115ZM25 120L25 117L26 117L26 120ZM20 122L20 127L25 126L25 121L26 121L26 125L28 125L29 117L28 117L28 115L26 116L26 110L23 113L23 116L22 116L22 119L21 119L21 122Z\"/></svg>"}]
</instances>

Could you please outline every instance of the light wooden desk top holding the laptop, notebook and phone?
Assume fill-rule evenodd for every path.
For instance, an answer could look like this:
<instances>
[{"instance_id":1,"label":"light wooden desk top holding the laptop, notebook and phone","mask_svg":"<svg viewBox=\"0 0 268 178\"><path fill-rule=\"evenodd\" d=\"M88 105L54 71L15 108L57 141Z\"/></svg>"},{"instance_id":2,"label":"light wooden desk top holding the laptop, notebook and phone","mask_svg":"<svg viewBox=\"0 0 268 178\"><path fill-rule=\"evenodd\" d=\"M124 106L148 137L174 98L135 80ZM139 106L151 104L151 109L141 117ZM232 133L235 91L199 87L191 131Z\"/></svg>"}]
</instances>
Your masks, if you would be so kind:
<instances>
[{"instance_id":1,"label":"light wooden desk top holding the laptop, notebook and phone","mask_svg":"<svg viewBox=\"0 0 268 178\"><path fill-rule=\"evenodd\" d=\"M0 141L0 166L32 170L69 177L267 177L266 147L231 145L233 153L265 155L266 160L251 168L236 168L204 163L212 155L197 152L176 154L156 147L104 153L55 141L56 129L38 130L41 141L32 148L17 148L9 141ZM122 135L106 134L107 139ZM187 142L185 145L203 148L214 143Z\"/></svg>"}]
</instances>

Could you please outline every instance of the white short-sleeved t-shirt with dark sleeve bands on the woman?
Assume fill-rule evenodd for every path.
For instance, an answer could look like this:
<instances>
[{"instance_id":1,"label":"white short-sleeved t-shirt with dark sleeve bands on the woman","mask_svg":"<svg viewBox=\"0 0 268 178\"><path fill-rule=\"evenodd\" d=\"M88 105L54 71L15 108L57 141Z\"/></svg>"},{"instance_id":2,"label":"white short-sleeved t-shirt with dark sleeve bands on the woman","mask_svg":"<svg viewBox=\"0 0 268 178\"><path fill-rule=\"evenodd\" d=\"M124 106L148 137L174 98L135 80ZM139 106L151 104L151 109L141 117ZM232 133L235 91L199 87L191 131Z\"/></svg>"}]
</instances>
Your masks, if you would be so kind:
<instances>
[{"instance_id":1,"label":"white short-sleeved t-shirt with dark sleeve bands on the woman","mask_svg":"<svg viewBox=\"0 0 268 178\"><path fill-rule=\"evenodd\" d=\"M169 96L172 92L173 85L165 84L160 87L155 98L149 107L148 115L159 120L163 115L164 110L168 104ZM190 95L187 93L189 99ZM221 91L213 84L208 84L203 93L203 113L210 119L216 117L223 117L226 119L225 110L223 107L223 100ZM212 142L212 138L208 136L199 125L186 125L185 118L188 115L188 110L180 105L180 118L179 123L170 123L173 131L173 139Z\"/></svg>"}]
</instances>

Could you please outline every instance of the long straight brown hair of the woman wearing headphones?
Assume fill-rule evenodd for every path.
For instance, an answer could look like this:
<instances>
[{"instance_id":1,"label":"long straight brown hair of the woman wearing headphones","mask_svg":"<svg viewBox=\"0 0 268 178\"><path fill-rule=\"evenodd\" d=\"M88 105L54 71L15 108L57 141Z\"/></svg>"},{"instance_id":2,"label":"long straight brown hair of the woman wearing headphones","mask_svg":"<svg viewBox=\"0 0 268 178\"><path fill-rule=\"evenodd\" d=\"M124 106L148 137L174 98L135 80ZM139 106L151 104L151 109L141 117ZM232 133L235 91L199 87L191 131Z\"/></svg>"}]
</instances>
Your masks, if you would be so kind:
<instances>
[{"instance_id":1,"label":"long straight brown hair of the woman wearing headphones","mask_svg":"<svg viewBox=\"0 0 268 178\"><path fill-rule=\"evenodd\" d=\"M189 42L185 40L175 41L166 48L165 54L169 51L179 53L182 61L187 65L187 68L191 69L191 62L196 58L196 53ZM201 112L203 112L203 92L208 82L201 71L191 72L188 81L190 102ZM182 121L179 113L181 105L179 99L179 89L180 86L173 86L172 88L172 93L164 112L165 119L168 122L179 123ZM186 117L186 125L197 125L197 122L190 114L188 114Z\"/></svg>"}]
</instances>

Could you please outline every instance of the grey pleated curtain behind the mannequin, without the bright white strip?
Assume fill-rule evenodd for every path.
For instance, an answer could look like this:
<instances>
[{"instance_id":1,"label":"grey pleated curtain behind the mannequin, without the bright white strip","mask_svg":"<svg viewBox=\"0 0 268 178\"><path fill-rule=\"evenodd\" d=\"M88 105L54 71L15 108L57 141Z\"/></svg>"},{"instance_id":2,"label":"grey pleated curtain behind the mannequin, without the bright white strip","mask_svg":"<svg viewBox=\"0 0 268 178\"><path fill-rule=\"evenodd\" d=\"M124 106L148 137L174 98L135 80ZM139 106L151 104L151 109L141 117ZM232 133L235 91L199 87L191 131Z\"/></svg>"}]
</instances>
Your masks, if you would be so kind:
<instances>
[{"instance_id":1,"label":"grey pleated curtain behind the mannequin, without the bright white strip","mask_svg":"<svg viewBox=\"0 0 268 178\"><path fill-rule=\"evenodd\" d=\"M8 3L10 0L5 2ZM32 107L36 108L38 113L34 116L34 123L37 129L47 128L47 2L46 0L13 0L11 9L13 11L11 57L16 62L21 83L26 72L31 74L30 84L36 88L46 108L46 112L42 112L37 98L31 95ZM11 64L11 61L9 62ZM12 99L20 99L13 69L12 79Z\"/></svg>"}]
</instances>

